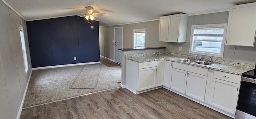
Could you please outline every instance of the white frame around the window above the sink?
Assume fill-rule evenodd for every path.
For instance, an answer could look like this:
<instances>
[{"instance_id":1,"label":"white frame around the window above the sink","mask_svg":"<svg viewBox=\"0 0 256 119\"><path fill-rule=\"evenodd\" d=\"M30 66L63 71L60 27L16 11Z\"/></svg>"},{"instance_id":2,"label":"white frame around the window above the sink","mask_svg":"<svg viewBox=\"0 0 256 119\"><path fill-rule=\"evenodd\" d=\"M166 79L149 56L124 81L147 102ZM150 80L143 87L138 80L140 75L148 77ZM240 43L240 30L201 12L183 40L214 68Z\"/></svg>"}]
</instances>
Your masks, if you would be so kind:
<instances>
[{"instance_id":1,"label":"white frame around the window above the sink","mask_svg":"<svg viewBox=\"0 0 256 119\"><path fill-rule=\"evenodd\" d=\"M202 52L202 51L192 51L193 43L194 43L194 41L193 41L194 29L195 29L195 28L203 28L203 27L224 27L223 39L222 39L220 54L216 54L216 53L207 53L207 52ZM224 53L224 46L225 46L225 39L226 39L226 30L227 30L227 23L205 24L205 25L192 25L192 26L191 26L191 35L190 35L190 48L189 48L189 53L190 53L190 54L196 54L196 55L206 55L206 56L221 57L221 58L222 58L222 57L223 57L223 53Z\"/></svg>"}]
</instances>

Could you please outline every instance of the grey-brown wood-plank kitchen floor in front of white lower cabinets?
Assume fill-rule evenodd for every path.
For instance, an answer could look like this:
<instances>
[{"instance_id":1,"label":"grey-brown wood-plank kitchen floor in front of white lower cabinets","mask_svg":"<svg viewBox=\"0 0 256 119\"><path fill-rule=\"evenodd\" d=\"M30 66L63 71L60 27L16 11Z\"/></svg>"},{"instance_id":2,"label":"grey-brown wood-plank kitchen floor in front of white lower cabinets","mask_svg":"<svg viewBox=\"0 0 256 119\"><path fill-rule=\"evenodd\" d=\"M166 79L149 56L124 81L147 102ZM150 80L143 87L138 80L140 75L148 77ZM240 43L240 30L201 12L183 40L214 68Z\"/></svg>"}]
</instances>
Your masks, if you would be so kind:
<instances>
[{"instance_id":1,"label":"grey-brown wood-plank kitchen floor in front of white lower cabinets","mask_svg":"<svg viewBox=\"0 0 256 119\"><path fill-rule=\"evenodd\" d=\"M20 119L232 119L164 88L116 88L23 109Z\"/></svg>"}]
</instances>

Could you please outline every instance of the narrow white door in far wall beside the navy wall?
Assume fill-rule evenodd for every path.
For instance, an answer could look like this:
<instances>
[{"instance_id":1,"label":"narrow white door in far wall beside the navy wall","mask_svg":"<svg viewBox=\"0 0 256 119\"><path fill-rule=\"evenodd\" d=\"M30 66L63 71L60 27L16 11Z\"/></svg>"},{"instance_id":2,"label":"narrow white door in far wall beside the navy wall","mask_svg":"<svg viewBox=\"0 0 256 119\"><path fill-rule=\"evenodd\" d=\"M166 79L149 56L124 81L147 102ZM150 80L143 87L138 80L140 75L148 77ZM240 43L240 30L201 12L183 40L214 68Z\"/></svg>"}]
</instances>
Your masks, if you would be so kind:
<instances>
[{"instance_id":1,"label":"narrow white door in far wall beside the navy wall","mask_svg":"<svg viewBox=\"0 0 256 119\"><path fill-rule=\"evenodd\" d=\"M123 27L114 27L115 29L115 62L122 64L122 51L118 50L123 48Z\"/></svg>"}]
</instances>

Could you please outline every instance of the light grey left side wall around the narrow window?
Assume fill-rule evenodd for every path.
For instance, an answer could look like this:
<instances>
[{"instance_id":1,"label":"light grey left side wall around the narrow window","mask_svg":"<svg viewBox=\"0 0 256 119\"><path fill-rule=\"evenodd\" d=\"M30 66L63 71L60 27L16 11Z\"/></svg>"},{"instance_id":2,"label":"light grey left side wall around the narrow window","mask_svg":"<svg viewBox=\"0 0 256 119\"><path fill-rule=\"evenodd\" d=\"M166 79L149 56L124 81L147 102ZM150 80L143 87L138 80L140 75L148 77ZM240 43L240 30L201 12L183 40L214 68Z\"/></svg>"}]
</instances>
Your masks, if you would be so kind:
<instances>
[{"instance_id":1,"label":"light grey left side wall around the narrow window","mask_svg":"<svg viewBox=\"0 0 256 119\"><path fill-rule=\"evenodd\" d=\"M0 1L0 119L16 119L31 73L26 21ZM24 27L28 74L25 74L18 24ZM20 90L21 89L21 90Z\"/></svg>"}]
</instances>

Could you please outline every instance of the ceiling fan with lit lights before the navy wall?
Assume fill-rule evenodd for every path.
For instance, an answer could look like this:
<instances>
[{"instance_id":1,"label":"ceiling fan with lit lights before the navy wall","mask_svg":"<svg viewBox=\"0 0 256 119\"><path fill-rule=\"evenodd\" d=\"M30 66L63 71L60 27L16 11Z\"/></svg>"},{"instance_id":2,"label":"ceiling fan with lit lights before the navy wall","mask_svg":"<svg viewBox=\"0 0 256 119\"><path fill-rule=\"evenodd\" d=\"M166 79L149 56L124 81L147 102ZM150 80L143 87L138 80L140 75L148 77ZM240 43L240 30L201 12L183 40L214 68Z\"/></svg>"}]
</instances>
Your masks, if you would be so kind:
<instances>
[{"instance_id":1,"label":"ceiling fan with lit lights before the navy wall","mask_svg":"<svg viewBox=\"0 0 256 119\"><path fill-rule=\"evenodd\" d=\"M81 17L84 17L86 20L88 20L88 23L91 24L91 20L94 20L94 17L98 17L97 15L99 14L106 14L106 13L92 13L93 12L93 8L91 6L85 7L86 8L86 13L79 13L79 14L84 14Z\"/></svg>"}]
</instances>

